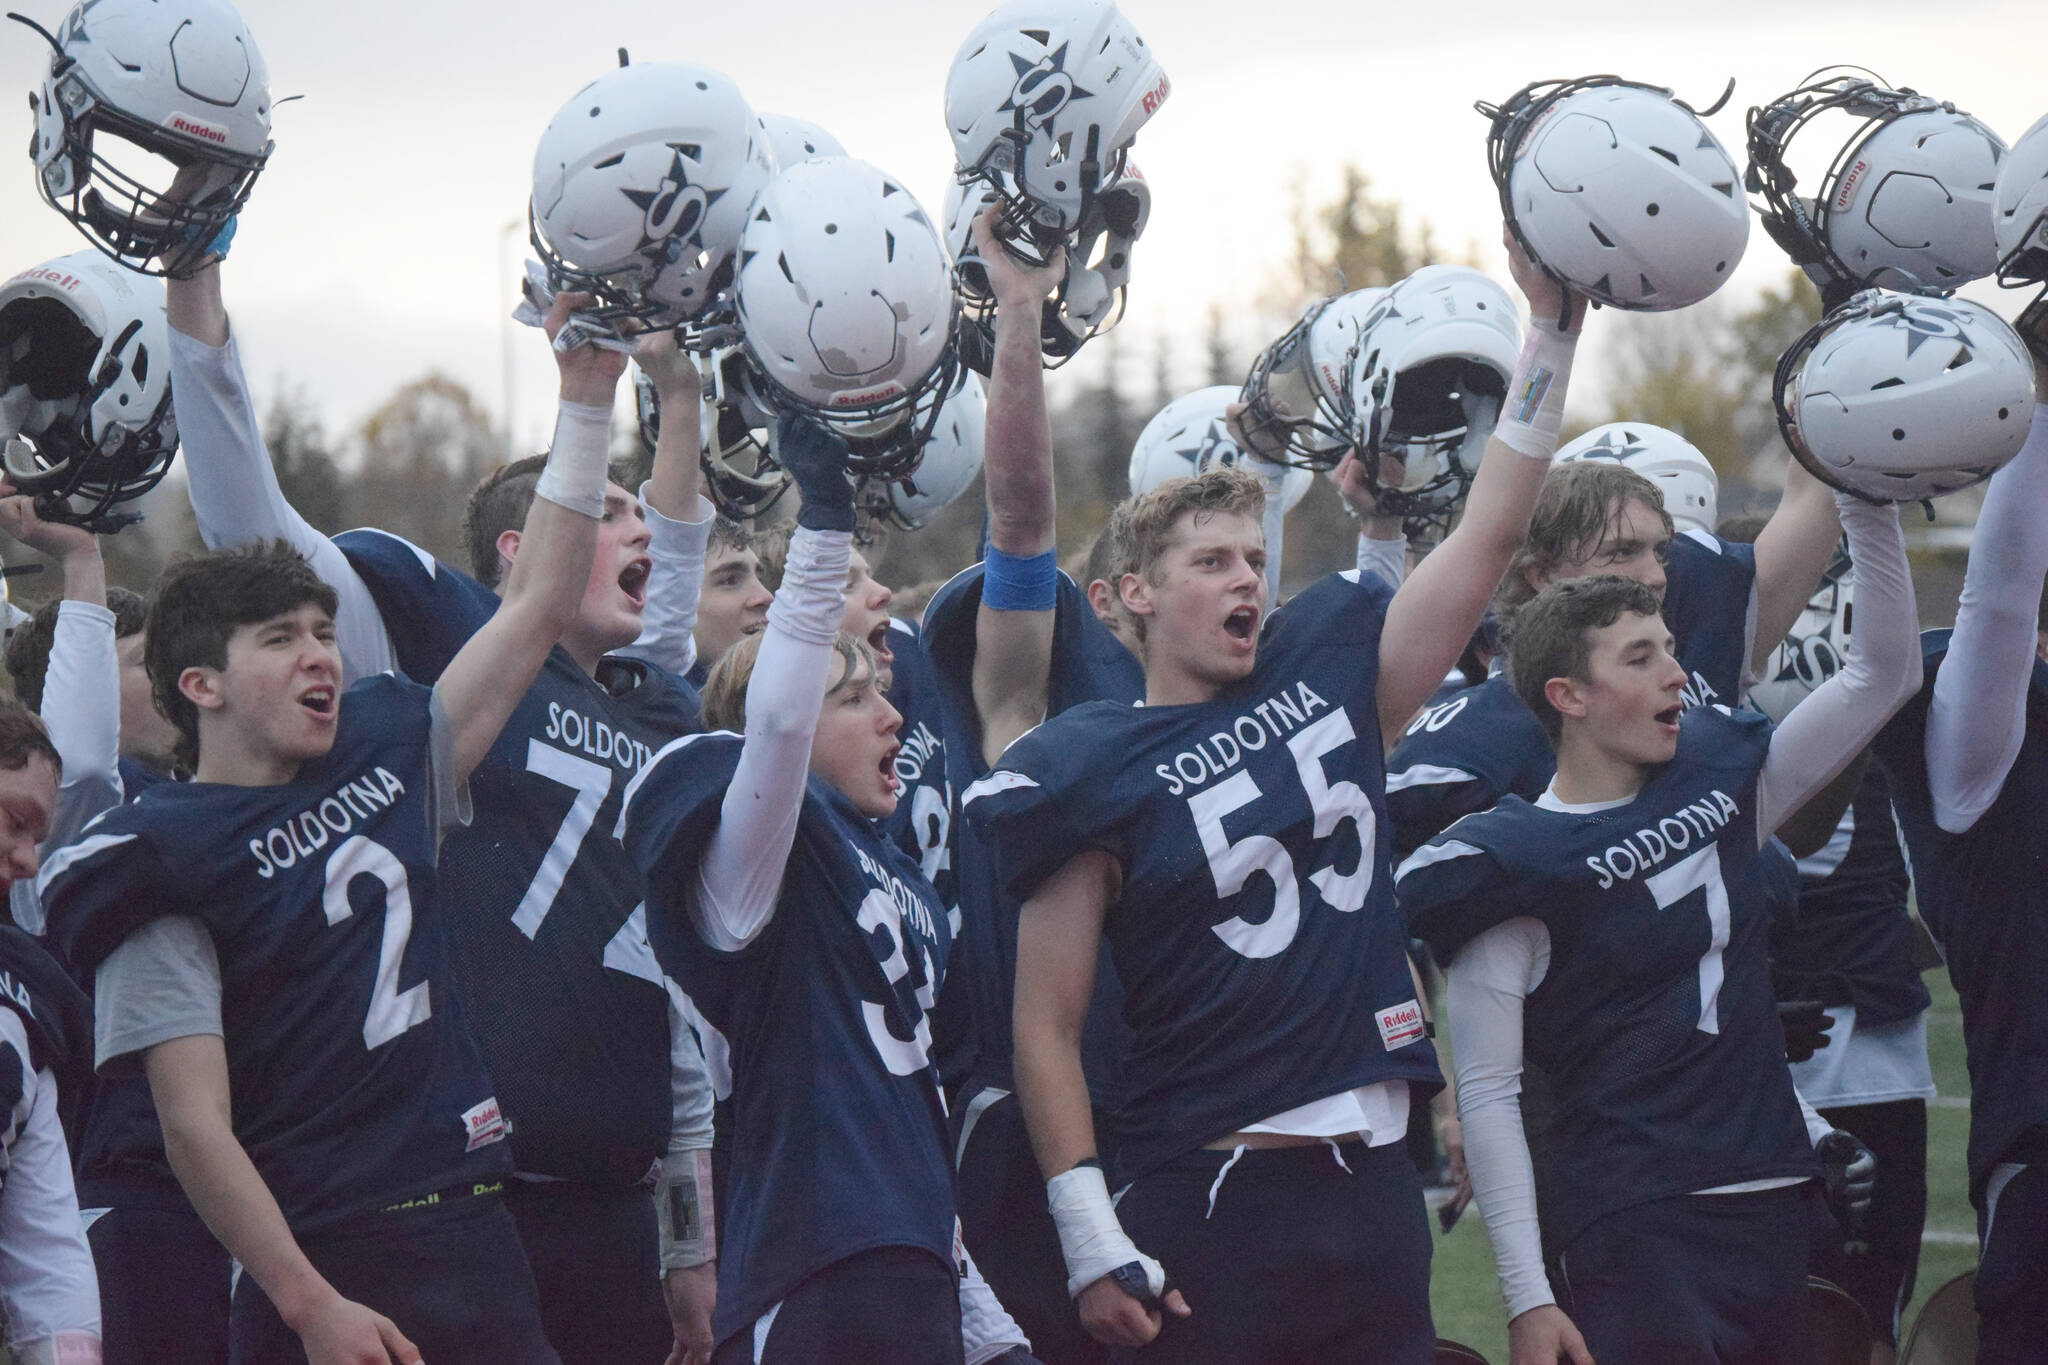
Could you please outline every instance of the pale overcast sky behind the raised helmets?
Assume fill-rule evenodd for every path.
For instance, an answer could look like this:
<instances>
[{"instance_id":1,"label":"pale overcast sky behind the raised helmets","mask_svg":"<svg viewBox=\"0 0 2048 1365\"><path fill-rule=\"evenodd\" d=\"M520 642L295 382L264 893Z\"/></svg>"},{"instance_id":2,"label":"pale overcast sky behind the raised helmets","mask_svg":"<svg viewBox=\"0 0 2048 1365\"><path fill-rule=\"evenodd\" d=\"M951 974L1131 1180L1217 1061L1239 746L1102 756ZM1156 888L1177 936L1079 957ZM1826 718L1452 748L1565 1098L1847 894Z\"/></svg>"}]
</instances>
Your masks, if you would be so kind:
<instances>
[{"instance_id":1,"label":"pale overcast sky behind the raised helmets","mask_svg":"<svg viewBox=\"0 0 2048 1365\"><path fill-rule=\"evenodd\" d=\"M276 151L225 274L258 393L281 379L303 385L330 430L346 432L399 383L440 368L500 411L502 317L524 256L532 147L618 47L725 70L754 108L825 125L854 156L901 176L936 219L952 166L946 65L985 8L244 0L272 94L305 96L276 111ZM63 12L53 0L25 10L51 27ZM1505 276L1473 100L1505 98L1530 80L1618 72L1704 106L1735 76L1737 94L1710 127L1737 160L1743 108L1835 61L1954 100L2007 139L2048 111L2038 0L1126 0L1126 12L1174 80L1135 153L1153 219L1137 254L1126 364L1147 377L1163 340L1190 366L1190 387L1212 303L1247 346L1257 340L1255 301L1288 258L1288 186L1305 180L1319 199L1343 162ZM0 147L18 158L0 170L6 272L82 246L37 199L20 156L25 96L45 68L41 39L0 27L0 90L18 100L14 139L0 127ZM1782 270L1753 231L1733 289ZM2011 313L2015 299L1999 305ZM551 366L537 334L512 342L514 432L541 440ZM1055 399L1100 383L1102 350L1053 377Z\"/></svg>"}]
</instances>

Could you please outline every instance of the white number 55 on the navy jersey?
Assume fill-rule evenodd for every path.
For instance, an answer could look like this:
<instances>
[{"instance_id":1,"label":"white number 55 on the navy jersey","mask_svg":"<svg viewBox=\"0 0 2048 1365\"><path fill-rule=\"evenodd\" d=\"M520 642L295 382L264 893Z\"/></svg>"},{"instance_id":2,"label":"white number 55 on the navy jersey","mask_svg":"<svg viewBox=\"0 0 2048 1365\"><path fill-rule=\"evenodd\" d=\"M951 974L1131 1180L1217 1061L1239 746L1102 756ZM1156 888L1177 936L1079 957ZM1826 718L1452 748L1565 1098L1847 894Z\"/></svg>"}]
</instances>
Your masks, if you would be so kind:
<instances>
[{"instance_id":1,"label":"white number 55 on the navy jersey","mask_svg":"<svg viewBox=\"0 0 2048 1365\"><path fill-rule=\"evenodd\" d=\"M1356 911L1366 902L1372 888L1372 800L1356 782L1331 782L1323 772L1323 755L1356 739L1352 718L1339 708L1315 724L1294 731L1286 747L1294 755L1294 772L1309 794L1309 808L1315 812L1315 837L1323 839L1337 829L1337 821L1350 819L1358 827L1358 868L1339 874L1335 866L1309 874L1323 900L1333 911ZM1300 927L1300 884L1294 880L1294 860L1286 845L1272 835L1245 835L1235 843L1223 833L1223 817L1241 810L1260 798L1260 786L1249 772L1235 772L1225 782L1188 798L1194 814L1194 829L1202 837L1202 851L1208 853L1208 874L1217 880L1217 896L1229 900L1253 872L1264 872L1274 884L1274 909L1262 923L1241 917L1210 925L1217 937L1245 958L1272 958L1294 941Z\"/></svg>"}]
</instances>

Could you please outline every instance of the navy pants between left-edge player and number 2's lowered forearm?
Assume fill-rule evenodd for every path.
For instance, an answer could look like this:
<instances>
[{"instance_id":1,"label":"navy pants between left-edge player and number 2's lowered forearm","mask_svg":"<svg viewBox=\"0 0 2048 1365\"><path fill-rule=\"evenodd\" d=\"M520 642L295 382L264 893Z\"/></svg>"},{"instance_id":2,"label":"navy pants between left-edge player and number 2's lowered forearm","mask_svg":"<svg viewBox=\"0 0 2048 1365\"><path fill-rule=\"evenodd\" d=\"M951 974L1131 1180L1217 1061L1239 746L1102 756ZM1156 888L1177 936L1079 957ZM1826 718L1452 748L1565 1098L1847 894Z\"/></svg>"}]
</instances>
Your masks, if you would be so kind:
<instances>
[{"instance_id":1,"label":"navy pants between left-edge player and number 2's lowered forearm","mask_svg":"<svg viewBox=\"0 0 2048 1365\"><path fill-rule=\"evenodd\" d=\"M86 1228L106 1365L225 1365L227 1248L193 1205L117 1205Z\"/></svg>"}]
</instances>

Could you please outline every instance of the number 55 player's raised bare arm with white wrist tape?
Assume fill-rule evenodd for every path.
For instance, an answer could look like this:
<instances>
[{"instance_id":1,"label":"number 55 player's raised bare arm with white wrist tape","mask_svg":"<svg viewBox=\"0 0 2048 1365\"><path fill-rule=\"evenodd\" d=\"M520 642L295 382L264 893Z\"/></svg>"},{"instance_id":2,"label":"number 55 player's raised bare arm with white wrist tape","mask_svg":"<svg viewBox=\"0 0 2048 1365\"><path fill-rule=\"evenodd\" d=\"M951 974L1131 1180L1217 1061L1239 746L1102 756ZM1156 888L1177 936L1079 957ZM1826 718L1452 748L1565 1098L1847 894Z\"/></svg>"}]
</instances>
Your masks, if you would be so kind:
<instances>
[{"instance_id":1,"label":"number 55 player's raised bare arm with white wrist tape","mask_svg":"<svg viewBox=\"0 0 2048 1365\"><path fill-rule=\"evenodd\" d=\"M1507 239L1507 264L1530 303L1522 362L1507 383L1507 407L1487 442L1464 518L1430 559L1415 565L1386 608L1380 630L1380 741L1391 749L1430 694L1464 653L1464 643L1528 538L1536 491L1550 473L1565 422L1565 385L1579 346L1585 301L1573 295L1571 327L1550 319L1565 291Z\"/></svg>"}]
</instances>

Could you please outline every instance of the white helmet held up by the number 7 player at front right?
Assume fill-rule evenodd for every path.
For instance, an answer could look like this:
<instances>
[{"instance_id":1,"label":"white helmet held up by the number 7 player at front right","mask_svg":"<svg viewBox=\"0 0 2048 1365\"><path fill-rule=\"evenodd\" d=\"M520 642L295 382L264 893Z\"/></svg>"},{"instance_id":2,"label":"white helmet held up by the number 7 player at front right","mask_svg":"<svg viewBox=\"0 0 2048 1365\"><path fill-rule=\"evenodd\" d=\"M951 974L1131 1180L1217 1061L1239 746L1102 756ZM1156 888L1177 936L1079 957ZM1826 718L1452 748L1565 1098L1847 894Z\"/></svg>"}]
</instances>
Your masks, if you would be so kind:
<instances>
[{"instance_id":1,"label":"white helmet held up by the number 7 player at front right","mask_svg":"<svg viewBox=\"0 0 2048 1365\"><path fill-rule=\"evenodd\" d=\"M2034 360L1968 299L1849 299L1778 362L1786 444L1817 479L1868 501L1954 493L2019 452Z\"/></svg>"}]
</instances>

